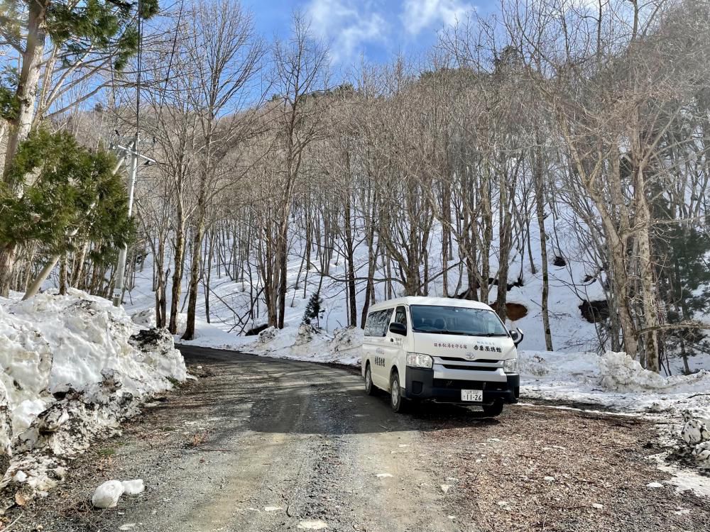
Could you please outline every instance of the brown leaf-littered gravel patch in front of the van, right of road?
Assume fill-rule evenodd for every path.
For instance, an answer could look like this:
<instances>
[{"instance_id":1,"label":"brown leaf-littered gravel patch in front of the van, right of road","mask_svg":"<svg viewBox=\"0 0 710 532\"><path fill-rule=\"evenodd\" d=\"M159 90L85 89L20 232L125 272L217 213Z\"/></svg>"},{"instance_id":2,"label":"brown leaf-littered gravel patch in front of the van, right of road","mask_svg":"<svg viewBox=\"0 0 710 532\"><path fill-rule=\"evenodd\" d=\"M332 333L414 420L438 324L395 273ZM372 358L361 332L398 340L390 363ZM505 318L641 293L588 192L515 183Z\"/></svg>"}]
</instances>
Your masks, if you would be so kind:
<instances>
[{"instance_id":1,"label":"brown leaf-littered gravel patch in front of the van, right of road","mask_svg":"<svg viewBox=\"0 0 710 532\"><path fill-rule=\"evenodd\" d=\"M656 436L641 419L518 406L429 437L482 531L710 531L710 501L646 487L668 478L648 460Z\"/></svg>"}]
</instances>

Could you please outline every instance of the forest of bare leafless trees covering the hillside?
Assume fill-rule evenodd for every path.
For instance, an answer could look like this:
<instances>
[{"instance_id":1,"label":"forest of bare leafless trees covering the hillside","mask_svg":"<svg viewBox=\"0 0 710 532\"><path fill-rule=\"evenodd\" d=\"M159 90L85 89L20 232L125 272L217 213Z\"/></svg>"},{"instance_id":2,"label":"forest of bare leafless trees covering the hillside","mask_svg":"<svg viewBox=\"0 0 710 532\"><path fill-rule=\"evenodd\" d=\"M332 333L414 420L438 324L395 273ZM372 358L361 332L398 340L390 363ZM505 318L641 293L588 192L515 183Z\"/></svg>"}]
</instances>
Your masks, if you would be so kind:
<instances>
[{"instance_id":1,"label":"forest of bare leafless trees covering the hillside","mask_svg":"<svg viewBox=\"0 0 710 532\"><path fill-rule=\"evenodd\" d=\"M185 1L144 30L138 125L134 60L64 72L45 50L25 80L39 87L31 120L0 127L8 167L26 123L90 148L138 127L157 164L140 170L128 276L152 268L159 326L177 333L184 306L192 338L214 277L241 287L229 309L245 333L283 328L291 299L324 283L349 326L404 294L506 318L503 287L536 275L553 350L549 270L576 261L580 304L591 284L605 295L600 350L654 371L710 352L709 4L506 0L444 28L424 60L346 74L307 18L292 26L268 43L239 1ZM57 103L69 93L75 106ZM87 226L64 235L60 289L109 297L114 247ZM0 231L2 294L24 292L55 250Z\"/></svg>"}]
</instances>

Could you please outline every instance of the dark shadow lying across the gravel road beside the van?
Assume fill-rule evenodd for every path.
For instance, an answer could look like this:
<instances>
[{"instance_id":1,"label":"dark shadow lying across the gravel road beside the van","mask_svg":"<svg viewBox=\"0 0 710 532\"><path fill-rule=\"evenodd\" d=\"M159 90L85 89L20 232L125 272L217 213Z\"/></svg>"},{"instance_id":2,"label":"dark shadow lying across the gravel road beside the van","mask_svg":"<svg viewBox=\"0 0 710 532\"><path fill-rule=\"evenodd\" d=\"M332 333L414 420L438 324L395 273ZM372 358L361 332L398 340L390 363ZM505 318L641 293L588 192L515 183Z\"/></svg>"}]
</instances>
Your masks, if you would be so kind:
<instances>
[{"instance_id":1,"label":"dark shadow lying across the gravel road beside the van","mask_svg":"<svg viewBox=\"0 0 710 532\"><path fill-rule=\"evenodd\" d=\"M191 387L179 408L230 419L246 416L246 428L261 433L342 436L392 431L437 431L506 423L482 411L455 404L423 402L405 414L391 411L387 394L369 397L361 377L349 370L313 362L258 357L234 351L179 346L185 361L202 365L209 377ZM165 404L162 408L170 408ZM248 412L245 412L248 409ZM215 410L217 412L215 412ZM222 431L220 431L222 432ZM219 434L212 440L219 443Z\"/></svg>"}]
</instances>

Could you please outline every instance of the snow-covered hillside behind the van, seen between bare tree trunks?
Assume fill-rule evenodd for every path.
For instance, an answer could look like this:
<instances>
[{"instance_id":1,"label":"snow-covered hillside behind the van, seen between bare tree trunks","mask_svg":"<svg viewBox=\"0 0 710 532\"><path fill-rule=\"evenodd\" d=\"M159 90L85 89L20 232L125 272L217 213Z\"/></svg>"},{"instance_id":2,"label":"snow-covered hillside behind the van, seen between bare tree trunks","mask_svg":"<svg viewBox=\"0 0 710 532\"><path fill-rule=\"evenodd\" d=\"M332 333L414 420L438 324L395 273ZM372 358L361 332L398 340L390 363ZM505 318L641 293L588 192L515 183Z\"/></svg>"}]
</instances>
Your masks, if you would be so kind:
<instances>
[{"instance_id":1,"label":"snow-covered hillside behind the van, seen between bare tree trunks","mask_svg":"<svg viewBox=\"0 0 710 532\"><path fill-rule=\"evenodd\" d=\"M556 221L552 216L545 223L548 225L548 235L555 235L547 243L550 264L550 328L552 343L555 352L545 350L545 337L542 327L542 267L540 265L540 233L535 231L533 225L530 233L530 246L515 245L518 249L510 257L510 282L522 279L522 284L513 286L508 291L509 303L521 304L527 309L527 314L516 321L508 321L510 327L520 327L525 333L525 339L520 345L523 350L521 360L523 366L526 361L534 372L523 375L525 393L529 397L560 398L565 395L568 399L577 401L602 402L611 404L615 401L626 404L625 394L618 390L603 389L599 395L596 390L601 389L600 355L603 350L599 348L598 331L594 323L589 323L581 315L579 305L581 301L603 300L603 289L599 280L594 278L594 271L590 271L591 260L586 257L586 250L581 249L574 235L572 223L564 221L566 218L558 213ZM552 226L555 223L555 226ZM442 240L436 228L432 230L429 244L430 268L434 281L430 283L429 294L442 295L442 279L434 275L441 270ZM349 343L346 348L340 345L337 338L342 336L344 327L348 323L346 311L346 297L344 284L333 279L342 279L346 275L343 257L334 254L329 266L330 275L321 282L320 273L315 269L309 272L308 285L304 289L304 272L300 272L304 250L303 238L295 231L292 235L293 243L288 261L288 297L285 314L285 328L281 331L267 331L257 336L240 336L240 331L249 330L253 326L266 323L266 309L263 302L256 308L256 316L251 320L240 323L239 316L245 316L249 305L249 293L258 292L260 280L253 274L252 279L239 279L234 282L224 274L224 267L213 265L210 276L210 323L207 323L204 306L204 287L198 298L197 309L197 334L191 343L196 345L212 346L242 350L256 354L297 358L300 360L313 360L320 362L342 362L345 364L356 363L359 358L356 333L348 333ZM520 251L524 249L524 254ZM532 254L532 262L530 255ZM454 256L457 254L454 245ZM555 257L564 260L555 260ZM356 276L364 279L367 276L366 261L367 249L364 244L355 250ZM496 249L491 255L491 267L497 268ZM141 271L136 272L136 286L130 294L130 304L127 306L129 313L133 314L136 323L151 325L153 318L153 264L152 257L148 256ZM169 261L168 261L169 262ZM564 264L564 265L555 265ZM386 272L378 271L376 278L386 277ZM448 273L449 292L454 290L459 283L459 270L452 268ZM250 281L253 282L250 290ZM185 279L185 283L187 279ZM310 340L304 338L300 328L303 311L310 294L320 287L323 299L324 312L320 319L322 331L310 333ZM376 300L385 299L384 284L376 284ZM183 293L187 289L183 286ZM357 308L360 312L364 306L364 281L357 283ZM492 287L490 299L496 297L497 287ZM396 294L395 295L400 295ZM181 301L182 302L182 301ZM360 322L360 314L357 322ZM151 321L152 320L152 321ZM181 316L179 323L184 323ZM601 353L600 353L601 351ZM674 375L680 372L680 360L670 360L670 367ZM696 370L710 369L710 357L696 357L691 360L691 367ZM618 368L617 368L618 369ZM536 373L537 372L537 373ZM638 394L646 395L649 389L639 390ZM614 395L618 399L604 399ZM649 396L650 397L650 396ZM611 403L610 403L611 401ZM619 402L621 401L621 402ZM655 399L643 401L644 408L650 406ZM633 401L630 401L633 402Z\"/></svg>"}]
</instances>

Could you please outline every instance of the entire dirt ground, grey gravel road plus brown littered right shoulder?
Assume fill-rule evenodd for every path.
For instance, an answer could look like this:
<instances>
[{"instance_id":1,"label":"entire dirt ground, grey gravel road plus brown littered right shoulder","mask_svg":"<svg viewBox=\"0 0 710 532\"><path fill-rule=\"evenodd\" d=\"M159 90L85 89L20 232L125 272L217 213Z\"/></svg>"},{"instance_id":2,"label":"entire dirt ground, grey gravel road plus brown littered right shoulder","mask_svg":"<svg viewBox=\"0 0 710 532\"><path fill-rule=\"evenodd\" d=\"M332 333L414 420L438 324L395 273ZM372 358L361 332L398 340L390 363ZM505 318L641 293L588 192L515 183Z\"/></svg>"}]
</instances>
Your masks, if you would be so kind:
<instances>
[{"instance_id":1,"label":"entire dirt ground, grey gravel road plus brown littered right shoulder","mask_svg":"<svg viewBox=\"0 0 710 532\"><path fill-rule=\"evenodd\" d=\"M199 375L146 405L16 531L701 531L710 502L663 484L657 429L512 406L393 414L341 368L181 348ZM104 480L146 492L97 511ZM1 528L0 528L1 530Z\"/></svg>"}]
</instances>

